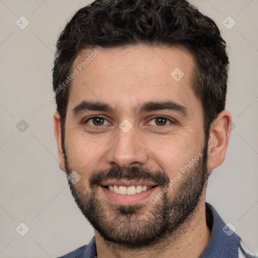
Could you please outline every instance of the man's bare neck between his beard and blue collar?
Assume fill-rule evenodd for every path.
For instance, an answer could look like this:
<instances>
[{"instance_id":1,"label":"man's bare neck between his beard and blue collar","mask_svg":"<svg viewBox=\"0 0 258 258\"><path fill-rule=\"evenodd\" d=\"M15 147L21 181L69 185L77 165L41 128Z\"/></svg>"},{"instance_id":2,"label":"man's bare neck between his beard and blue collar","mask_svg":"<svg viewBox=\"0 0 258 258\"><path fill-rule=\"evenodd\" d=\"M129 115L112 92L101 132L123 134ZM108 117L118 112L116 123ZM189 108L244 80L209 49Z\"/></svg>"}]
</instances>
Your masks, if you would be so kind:
<instances>
[{"instance_id":1,"label":"man's bare neck between his beard and blue collar","mask_svg":"<svg viewBox=\"0 0 258 258\"><path fill-rule=\"evenodd\" d=\"M146 258L153 256L198 258L205 250L210 240L211 232L206 224L205 200L197 207L195 214L191 216L176 232L164 237L159 243L149 247L128 249L116 243L105 241L95 231L98 257L106 258Z\"/></svg>"}]
</instances>

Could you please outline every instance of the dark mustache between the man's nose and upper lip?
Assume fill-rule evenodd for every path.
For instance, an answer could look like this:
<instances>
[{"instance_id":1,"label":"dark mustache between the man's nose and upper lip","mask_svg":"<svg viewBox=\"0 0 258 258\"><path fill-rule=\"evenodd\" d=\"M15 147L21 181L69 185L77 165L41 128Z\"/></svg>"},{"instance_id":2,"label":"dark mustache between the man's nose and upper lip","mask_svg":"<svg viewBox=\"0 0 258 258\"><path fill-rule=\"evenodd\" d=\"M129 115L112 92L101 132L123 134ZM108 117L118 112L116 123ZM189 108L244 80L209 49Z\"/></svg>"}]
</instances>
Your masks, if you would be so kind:
<instances>
[{"instance_id":1,"label":"dark mustache between the man's nose and upper lip","mask_svg":"<svg viewBox=\"0 0 258 258\"><path fill-rule=\"evenodd\" d=\"M128 180L144 180L152 181L157 185L165 186L169 183L169 177L161 170L151 171L150 169L141 167L119 168L99 170L92 173L89 178L90 187L101 185L102 181L108 179L128 179Z\"/></svg>"}]
</instances>

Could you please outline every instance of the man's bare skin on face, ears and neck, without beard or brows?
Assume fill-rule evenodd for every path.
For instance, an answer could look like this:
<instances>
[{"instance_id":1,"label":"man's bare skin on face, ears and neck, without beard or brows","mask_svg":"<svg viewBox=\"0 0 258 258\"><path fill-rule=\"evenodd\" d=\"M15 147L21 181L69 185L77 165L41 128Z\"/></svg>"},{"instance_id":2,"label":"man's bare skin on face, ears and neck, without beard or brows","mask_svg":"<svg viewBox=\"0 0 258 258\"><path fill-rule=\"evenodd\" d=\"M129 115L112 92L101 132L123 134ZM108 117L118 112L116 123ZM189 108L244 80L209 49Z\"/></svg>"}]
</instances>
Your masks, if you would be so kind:
<instances>
[{"instance_id":1,"label":"man's bare skin on face, ears and neck, without beard or brows","mask_svg":"<svg viewBox=\"0 0 258 258\"><path fill-rule=\"evenodd\" d=\"M102 49L72 81L66 117L65 146L69 164L81 171L78 182L89 187L94 170L113 166L130 168L142 166L165 171L174 178L202 150L205 143L201 102L191 89L194 62L189 52L180 48L127 46L124 49ZM94 50L85 49L77 56L73 70ZM180 68L184 76L177 82L170 73ZM74 115L73 109L82 101L109 104L113 112L86 111ZM172 100L187 109L184 116L175 110L154 110L138 113L135 108L148 101ZM90 116L105 117L105 124L84 123ZM162 116L174 121L158 126L153 117ZM60 116L54 114L54 133L57 141L60 168L66 171L62 155ZM119 124L127 119L133 125L124 133ZM97 128L98 127L98 128ZM231 115L222 111L210 129L208 169L219 166L225 158L229 142ZM170 193L177 184L169 189ZM155 197L160 189L152 192ZM103 201L110 201L99 190ZM141 201L150 204L150 198ZM148 209L145 210L148 216ZM129 250L107 245L95 231L97 253L102 257L199 257L210 239L205 218L205 191L191 221L177 237L171 236L153 248Z\"/></svg>"}]
</instances>

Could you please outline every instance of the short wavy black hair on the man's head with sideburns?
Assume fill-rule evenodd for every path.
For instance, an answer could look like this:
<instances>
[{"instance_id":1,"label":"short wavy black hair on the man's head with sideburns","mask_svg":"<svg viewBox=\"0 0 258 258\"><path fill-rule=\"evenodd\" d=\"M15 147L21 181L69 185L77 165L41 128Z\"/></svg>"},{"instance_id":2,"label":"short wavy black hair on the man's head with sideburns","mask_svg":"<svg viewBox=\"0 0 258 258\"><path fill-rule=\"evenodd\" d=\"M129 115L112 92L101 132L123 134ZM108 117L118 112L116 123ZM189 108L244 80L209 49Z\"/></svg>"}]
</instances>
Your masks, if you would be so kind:
<instances>
[{"instance_id":1,"label":"short wavy black hair on the man's head with sideburns","mask_svg":"<svg viewBox=\"0 0 258 258\"><path fill-rule=\"evenodd\" d=\"M73 16L58 38L53 68L53 90L60 91L55 100L62 128L69 84L60 85L67 80L80 51L139 44L182 46L191 53L195 61L191 87L202 103L207 139L212 121L225 109L226 42L215 22L184 0L96 0Z\"/></svg>"}]
</instances>

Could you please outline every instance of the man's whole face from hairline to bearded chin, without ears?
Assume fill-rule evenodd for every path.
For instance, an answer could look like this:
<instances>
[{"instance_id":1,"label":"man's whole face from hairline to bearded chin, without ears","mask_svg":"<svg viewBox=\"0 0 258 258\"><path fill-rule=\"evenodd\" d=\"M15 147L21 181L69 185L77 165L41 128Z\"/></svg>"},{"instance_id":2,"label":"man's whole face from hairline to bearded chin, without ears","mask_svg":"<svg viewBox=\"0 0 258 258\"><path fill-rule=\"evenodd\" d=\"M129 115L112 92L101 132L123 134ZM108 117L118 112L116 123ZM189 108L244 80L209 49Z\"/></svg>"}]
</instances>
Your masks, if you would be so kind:
<instances>
[{"instance_id":1,"label":"man's whole face from hairline to bearded chin, without ears","mask_svg":"<svg viewBox=\"0 0 258 258\"><path fill-rule=\"evenodd\" d=\"M204 194L207 143L190 87L193 60L177 47L98 50L73 64L66 171L80 175L69 181L73 196L105 240L147 246L176 232Z\"/></svg>"}]
</instances>

